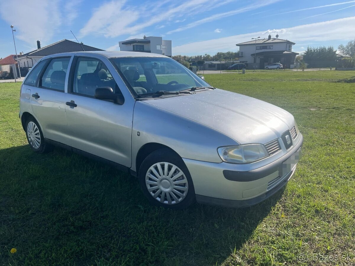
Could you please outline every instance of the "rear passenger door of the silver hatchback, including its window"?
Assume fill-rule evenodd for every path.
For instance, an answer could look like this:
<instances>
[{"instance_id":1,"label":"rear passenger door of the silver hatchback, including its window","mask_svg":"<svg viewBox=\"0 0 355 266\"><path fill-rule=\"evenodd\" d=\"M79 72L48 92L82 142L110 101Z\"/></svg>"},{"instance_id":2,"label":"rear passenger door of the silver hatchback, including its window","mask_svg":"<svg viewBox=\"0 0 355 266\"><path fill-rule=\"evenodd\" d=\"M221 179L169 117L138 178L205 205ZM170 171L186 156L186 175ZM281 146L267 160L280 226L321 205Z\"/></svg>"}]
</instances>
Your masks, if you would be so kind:
<instances>
[{"instance_id":1,"label":"rear passenger door of the silver hatchback, including its window","mask_svg":"<svg viewBox=\"0 0 355 266\"><path fill-rule=\"evenodd\" d=\"M44 138L70 145L65 115L66 79L70 56L48 59L38 87L31 88L31 110Z\"/></svg>"}]
</instances>

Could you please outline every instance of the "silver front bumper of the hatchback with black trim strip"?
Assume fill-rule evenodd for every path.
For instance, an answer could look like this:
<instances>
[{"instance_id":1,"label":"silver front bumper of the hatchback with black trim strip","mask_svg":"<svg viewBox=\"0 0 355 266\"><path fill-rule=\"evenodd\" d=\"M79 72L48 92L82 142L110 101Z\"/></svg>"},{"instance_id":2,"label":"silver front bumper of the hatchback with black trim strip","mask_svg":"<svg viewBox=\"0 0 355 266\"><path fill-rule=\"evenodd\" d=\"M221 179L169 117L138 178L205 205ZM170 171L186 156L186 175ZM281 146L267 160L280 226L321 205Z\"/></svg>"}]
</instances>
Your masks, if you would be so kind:
<instances>
[{"instance_id":1,"label":"silver front bumper of the hatchback with black trim strip","mask_svg":"<svg viewBox=\"0 0 355 266\"><path fill-rule=\"evenodd\" d=\"M183 160L198 203L246 207L267 199L289 181L301 157L302 144L303 136L299 133L295 144L284 149L282 156L270 156L264 162L252 164Z\"/></svg>"}]
</instances>

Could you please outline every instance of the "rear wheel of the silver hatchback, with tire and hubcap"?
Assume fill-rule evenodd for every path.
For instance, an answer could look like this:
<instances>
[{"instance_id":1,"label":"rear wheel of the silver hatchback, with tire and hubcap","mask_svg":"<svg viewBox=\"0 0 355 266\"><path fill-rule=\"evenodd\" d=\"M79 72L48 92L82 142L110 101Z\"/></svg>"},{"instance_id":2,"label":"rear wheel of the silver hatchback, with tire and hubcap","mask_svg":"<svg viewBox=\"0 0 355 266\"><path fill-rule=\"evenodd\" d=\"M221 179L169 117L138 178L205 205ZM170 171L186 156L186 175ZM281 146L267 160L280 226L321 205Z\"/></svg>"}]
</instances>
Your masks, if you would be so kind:
<instances>
[{"instance_id":1,"label":"rear wheel of the silver hatchback, with tire and hubcap","mask_svg":"<svg viewBox=\"0 0 355 266\"><path fill-rule=\"evenodd\" d=\"M37 153L50 151L51 146L45 142L41 128L34 118L28 118L25 128L27 141L32 150Z\"/></svg>"}]
</instances>

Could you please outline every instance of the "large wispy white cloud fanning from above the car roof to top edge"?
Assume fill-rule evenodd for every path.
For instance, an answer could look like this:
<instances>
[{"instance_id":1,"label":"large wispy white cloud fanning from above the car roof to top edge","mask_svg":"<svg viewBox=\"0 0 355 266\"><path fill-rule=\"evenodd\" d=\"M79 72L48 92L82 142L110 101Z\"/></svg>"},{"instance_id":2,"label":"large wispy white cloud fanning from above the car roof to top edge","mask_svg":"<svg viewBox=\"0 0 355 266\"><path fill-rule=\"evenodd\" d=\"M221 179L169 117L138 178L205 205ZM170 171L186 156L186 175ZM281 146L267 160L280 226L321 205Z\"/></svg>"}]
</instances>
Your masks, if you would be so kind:
<instances>
[{"instance_id":1,"label":"large wispy white cloud fanning from above the car roof to top edge","mask_svg":"<svg viewBox=\"0 0 355 266\"><path fill-rule=\"evenodd\" d=\"M104 35L105 37L137 34L144 28L157 23L161 24L161 22L173 20L182 15L196 15L233 1L236 0L187 0L185 2L166 0L159 4L147 2L147 5L135 6L133 9L132 6L125 5L126 0L111 0L94 10L91 18L80 30L80 37L88 34Z\"/></svg>"}]
</instances>

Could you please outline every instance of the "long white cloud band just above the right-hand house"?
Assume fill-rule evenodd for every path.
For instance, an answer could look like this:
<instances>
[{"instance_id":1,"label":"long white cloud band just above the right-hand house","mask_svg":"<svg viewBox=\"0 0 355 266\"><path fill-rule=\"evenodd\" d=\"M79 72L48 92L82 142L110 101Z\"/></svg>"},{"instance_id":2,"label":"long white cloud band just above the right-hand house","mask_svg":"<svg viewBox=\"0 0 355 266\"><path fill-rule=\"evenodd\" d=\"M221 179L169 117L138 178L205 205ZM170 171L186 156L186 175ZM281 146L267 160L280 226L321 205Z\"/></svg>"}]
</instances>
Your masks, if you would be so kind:
<instances>
[{"instance_id":1,"label":"long white cloud band just above the right-hand house","mask_svg":"<svg viewBox=\"0 0 355 266\"><path fill-rule=\"evenodd\" d=\"M347 25L344 27L344 25ZM255 36L266 37L268 34L278 33L281 39L292 40L297 43L310 41L348 40L353 38L355 32L355 16L340 18L318 23L304 24L291 28L268 29L253 33L233 35L224 38L198 41L173 47L173 54L196 55L207 52L234 51L235 44L249 41Z\"/></svg>"}]
</instances>

